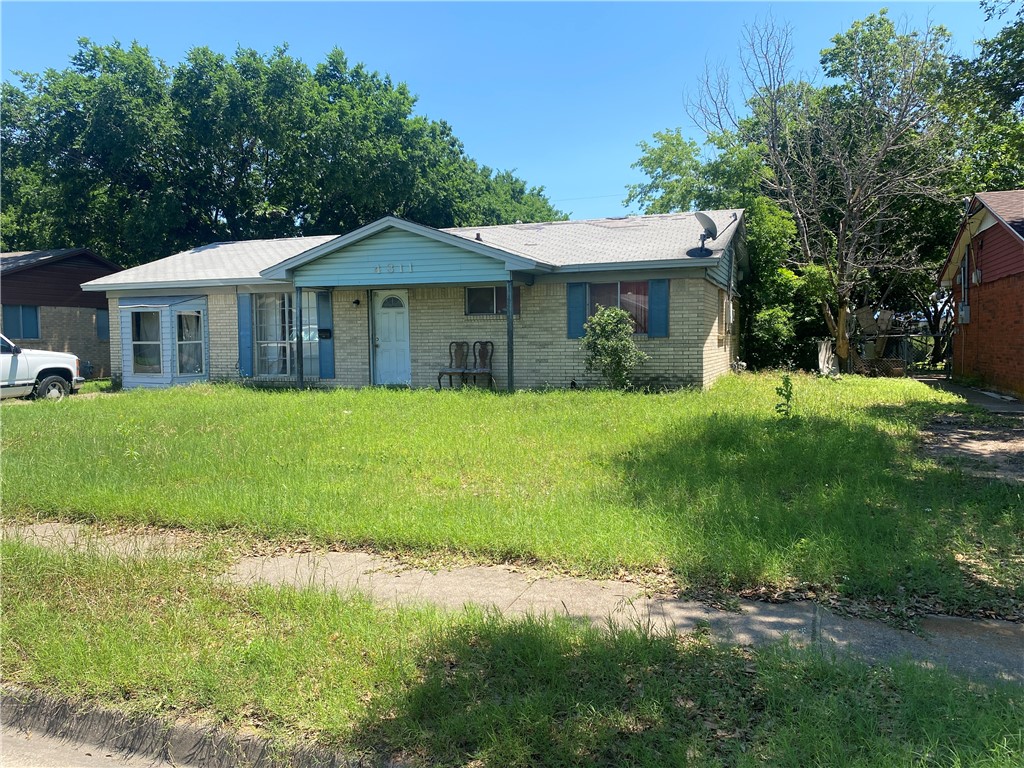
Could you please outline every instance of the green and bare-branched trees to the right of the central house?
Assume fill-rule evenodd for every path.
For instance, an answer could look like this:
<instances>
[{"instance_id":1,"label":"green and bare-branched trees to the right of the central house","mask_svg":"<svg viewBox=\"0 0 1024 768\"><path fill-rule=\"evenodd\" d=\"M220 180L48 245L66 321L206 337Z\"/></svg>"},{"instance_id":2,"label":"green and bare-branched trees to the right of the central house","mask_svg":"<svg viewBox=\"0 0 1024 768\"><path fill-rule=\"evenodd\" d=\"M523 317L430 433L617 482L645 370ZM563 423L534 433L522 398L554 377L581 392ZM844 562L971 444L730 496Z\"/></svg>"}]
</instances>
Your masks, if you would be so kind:
<instances>
[{"instance_id":1,"label":"green and bare-branched trees to the right of the central house","mask_svg":"<svg viewBox=\"0 0 1024 768\"><path fill-rule=\"evenodd\" d=\"M947 55L941 28L901 30L885 11L871 14L833 38L825 84L814 85L791 76L790 30L769 19L745 30L738 109L724 73L702 78L690 114L708 135L703 156L679 130L641 142L635 167L648 181L629 202L651 213L748 208L749 362L806 365L808 339L825 334L847 356L848 317L860 306L923 317L941 337L948 297L935 274L961 200L1024 183L1020 23L968 61Z\"/></svg>"}]
</instances>

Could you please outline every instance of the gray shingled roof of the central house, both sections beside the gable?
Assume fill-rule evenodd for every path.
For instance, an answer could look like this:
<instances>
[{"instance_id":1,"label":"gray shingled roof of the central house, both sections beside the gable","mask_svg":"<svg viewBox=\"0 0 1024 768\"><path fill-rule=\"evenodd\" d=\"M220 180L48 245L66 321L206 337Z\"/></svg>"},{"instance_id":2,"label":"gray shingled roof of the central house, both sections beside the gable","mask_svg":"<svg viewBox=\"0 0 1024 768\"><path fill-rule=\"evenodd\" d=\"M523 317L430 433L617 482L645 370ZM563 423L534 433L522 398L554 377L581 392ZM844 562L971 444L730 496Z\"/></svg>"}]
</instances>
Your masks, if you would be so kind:
<instances>
[{"instance_id":1,"label":"gray shingled roof of the central house, both sections beside the gable","mask_svg":"<svg viewBox=\"0 0 1024 768\"><path fill-rule=\"evenodd\" d=\"M440 231L556 268L600 267L602 264L721 256L736 232L742 210L708 213L718 224L719 236L716 240L707 242L705 251L699 250L703 228L692 213L540 224L465 226ZM324 234L214 243L85 285L90 290L117 290L164 285L265 283L260 278L262 270L329 243L336 237Z\"/></svg>"}]
</instances>

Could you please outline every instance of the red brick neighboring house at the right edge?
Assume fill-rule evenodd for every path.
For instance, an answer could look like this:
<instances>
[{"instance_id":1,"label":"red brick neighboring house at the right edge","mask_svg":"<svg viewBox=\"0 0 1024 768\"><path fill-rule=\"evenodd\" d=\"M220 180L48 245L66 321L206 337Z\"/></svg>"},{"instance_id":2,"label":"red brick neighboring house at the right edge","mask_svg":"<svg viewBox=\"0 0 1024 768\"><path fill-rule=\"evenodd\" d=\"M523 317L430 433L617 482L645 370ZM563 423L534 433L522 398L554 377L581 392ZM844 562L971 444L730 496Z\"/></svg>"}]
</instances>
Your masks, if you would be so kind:
<instances>
[{"instance_id":1,"label":"red brick neighboring house at the right edge","mask_svg":"<svg viewBox=\"0 0 1024 768\"><path fill-rule=\"evenodd\" d=\"M1024 189L978 193L942 267L952 374L1024 397Z\"/></svg>"}]
</instances>

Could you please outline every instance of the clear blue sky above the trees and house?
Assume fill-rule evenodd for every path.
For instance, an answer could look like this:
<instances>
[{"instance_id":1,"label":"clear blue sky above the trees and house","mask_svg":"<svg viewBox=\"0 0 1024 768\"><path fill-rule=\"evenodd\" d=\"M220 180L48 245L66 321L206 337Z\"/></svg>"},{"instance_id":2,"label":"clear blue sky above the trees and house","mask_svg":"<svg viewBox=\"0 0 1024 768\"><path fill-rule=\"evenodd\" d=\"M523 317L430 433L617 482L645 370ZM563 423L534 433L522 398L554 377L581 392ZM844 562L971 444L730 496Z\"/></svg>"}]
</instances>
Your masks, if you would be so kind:
<instances>
[{"instance_id":1,"label":"clear blue sky above the trees and house","mask_svg":"<svg viewBox=\"0 0 1024 768\"><path fill-rule=\"evenodd\" d=\"M339 3L10 2L0 4L3 77L62 69L77 39L137 40L169 65L196 46L230 54L288 43L310 67L334 47L404 82L418 112L446 120L467 153L543 185L573 218L620 216L637 142L692 130L684 94L706 61L735 65L741 28L769 12L795 30L816 72L831 36L888 5L945 25L965 55L999 29L977 2Z\"/></svg>"}]
</instances>

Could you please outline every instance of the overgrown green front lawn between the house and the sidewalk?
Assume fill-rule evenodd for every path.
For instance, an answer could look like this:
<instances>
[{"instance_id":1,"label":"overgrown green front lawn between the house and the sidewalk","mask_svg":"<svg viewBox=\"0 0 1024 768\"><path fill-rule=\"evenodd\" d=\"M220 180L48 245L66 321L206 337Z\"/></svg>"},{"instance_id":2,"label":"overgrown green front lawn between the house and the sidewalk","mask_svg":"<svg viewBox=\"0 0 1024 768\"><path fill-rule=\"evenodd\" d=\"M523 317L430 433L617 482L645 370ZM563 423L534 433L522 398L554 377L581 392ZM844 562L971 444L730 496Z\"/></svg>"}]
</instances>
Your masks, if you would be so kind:
<instances>
[{"instance_id":1,"label":"overgrown green front lawn between the house and the sidewalk","mask_svg":"<svg viewBox=\"0 0 1024 768\"><path fill-rule=\"evenodd\" d=\"M684 585L810 584L1008 615L1020 486L920 459L955 408L912 381L777 376L708 392L198 386L3 411L8 516L238 528Z\"/></svg>"}]
</instances>

